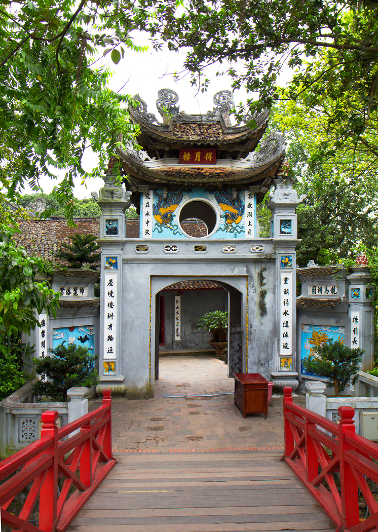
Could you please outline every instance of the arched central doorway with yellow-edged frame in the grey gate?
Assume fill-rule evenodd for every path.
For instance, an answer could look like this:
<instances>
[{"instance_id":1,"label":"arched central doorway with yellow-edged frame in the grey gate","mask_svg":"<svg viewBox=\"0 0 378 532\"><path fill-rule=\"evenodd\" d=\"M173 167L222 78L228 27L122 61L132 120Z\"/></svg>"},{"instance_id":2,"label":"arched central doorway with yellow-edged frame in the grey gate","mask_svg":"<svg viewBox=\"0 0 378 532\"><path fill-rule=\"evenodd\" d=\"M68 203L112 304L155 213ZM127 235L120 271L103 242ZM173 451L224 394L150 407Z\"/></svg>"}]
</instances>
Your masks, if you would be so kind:
<instances>
[{"instance_id":1,"label":"arched central doorway with yellow-edged frame in the grey gate","mask_svg":"<svg viewBox=\"0 0 378 532\"><path fill-rule=\"evenodd\" d=\"M196 319L212 310L229 312L227 376L233 377L234 373L244 371L248 322L246 277L193 276L181 280L172 276L155 281L152 281L151 288L160 285L161 289L151 298L155 303L151 308L151 318L152 314L154 316L154 321L151 320L151 332L154 333L151 335L151 389L154 381L159 379L159 348L180 351L181 347L185 352L198 346L211 351L208 345L210 335L199 331ZM177 296L180 299L180 340L174 339L174 301Z\"/></svg>"}]
</instances>

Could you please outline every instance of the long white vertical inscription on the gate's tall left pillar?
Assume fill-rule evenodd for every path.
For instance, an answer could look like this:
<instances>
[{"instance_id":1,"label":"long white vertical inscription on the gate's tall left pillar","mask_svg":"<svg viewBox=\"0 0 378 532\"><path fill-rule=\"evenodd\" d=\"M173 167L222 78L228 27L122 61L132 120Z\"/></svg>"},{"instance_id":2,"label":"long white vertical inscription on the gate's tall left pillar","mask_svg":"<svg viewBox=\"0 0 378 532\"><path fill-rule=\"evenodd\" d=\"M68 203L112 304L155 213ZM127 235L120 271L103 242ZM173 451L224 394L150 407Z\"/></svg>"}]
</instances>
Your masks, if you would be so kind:
<instances>
[{"instance_id":1,"label":"long white vertical inscription on the gate's tall left pillar","mask_svg":"<svg viewBox=\"0 0 378 532\"><path fill-rule=\"evenodd\" d=\"M104 360L109 360L117 358L117 273L104 277Z\"/></svg>"}]
</instances>

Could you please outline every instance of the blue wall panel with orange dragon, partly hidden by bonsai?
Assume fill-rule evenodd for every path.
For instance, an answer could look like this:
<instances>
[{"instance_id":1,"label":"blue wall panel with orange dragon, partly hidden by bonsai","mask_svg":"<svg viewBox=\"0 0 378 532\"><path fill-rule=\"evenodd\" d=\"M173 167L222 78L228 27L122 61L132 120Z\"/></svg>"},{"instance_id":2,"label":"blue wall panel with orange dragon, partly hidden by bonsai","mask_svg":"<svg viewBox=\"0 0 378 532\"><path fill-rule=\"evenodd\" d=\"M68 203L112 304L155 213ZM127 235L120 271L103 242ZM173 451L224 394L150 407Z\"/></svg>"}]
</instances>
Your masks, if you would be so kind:
<instances>
[{"instance_id":1,"label":"blue wall panel with orange dragon, partly hidden by bonsai","mask_svg":"<svg viewBox=\"0 0 378 532\"><path fill-rule=\"evenodd\" d=\"M323 326L323 325L302 325L302 337L301 337L301 361L307 356L315 355L314 348L318 345L322 345L328 340L333 342L345 343L345 327L337 326ZM316 355L315 355L316 356ZM312 373L307 373L303 364L301 363L302 375L311 375L312 377L318 377Z\"/></svg>"}]
</instances>

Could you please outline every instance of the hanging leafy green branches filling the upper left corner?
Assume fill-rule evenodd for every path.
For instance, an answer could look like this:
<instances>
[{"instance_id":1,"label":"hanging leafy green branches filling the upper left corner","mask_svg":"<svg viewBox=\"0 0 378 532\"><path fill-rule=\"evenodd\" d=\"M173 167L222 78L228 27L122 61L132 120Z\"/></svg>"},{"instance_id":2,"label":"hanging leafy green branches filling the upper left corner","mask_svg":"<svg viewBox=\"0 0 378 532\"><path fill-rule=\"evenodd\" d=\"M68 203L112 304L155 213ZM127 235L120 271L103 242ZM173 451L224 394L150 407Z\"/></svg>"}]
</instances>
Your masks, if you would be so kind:
<instances>
[{"instance_id":1,"label":"hanging leafy green branches filling the upper left corner","mask_svg":"<svg viewBox=\"0 0 378 532\"><path fill-rule=\"evenodd\" d=\"M55 196L72 216L73 178L85 178L87 146L107 167L117 143L133 137L129 97L106 87L109 69L91 66L96 48L118 62L129 38L133 5L81 0L7 0L0 7L0 140L3 186L10 195L41 174L65 177ZM122 47L117 48L120 43ZM117 171L117 168L116 168ZM5 182L8 179L9 182Z\"/></svg>"}]
</instances>

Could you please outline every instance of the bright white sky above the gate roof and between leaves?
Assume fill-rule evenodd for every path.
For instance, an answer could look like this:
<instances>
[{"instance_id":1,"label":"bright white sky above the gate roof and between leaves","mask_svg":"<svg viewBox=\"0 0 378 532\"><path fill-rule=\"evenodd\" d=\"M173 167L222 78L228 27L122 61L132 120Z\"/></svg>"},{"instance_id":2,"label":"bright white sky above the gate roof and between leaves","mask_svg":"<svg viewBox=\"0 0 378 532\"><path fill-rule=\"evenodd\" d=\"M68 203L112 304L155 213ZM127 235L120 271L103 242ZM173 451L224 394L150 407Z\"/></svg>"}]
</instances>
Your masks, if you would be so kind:
<instances>
[{"instance_id":1,"label":"bright white sky above the gate roof and between leaves","mask_svg":"<svg viewBox=\"0 0 378 532\"><path fill-rule=\"evenodd\" d=\"M102 64L109 64L113 70L109 87L118 92L126 84L120 92L130 95L139 94L147 103L148 111L156 114L160 120L161 117L155 105L159 89L170 88L175 90L179 97L178 105L180 110L191 114L201 114L212 110L213 95L220 90L231 89L231 78L216 76L217 71L221 71L223 65L213 64L206 69L206 78L210 80L207 92L198 92L198 89L190 84L190 75L184 71L184 59L184 52L169 52L168 49L161 52L151 50L141 53L126 49L124 59L121 59L118 65L111 62L110 54L108 54L105 58L100 59L96 66L100 67ZM180 79L178 81L174 79L175 72L179 73ZM283 84L283 81L287 81L286 78L287 74L281 80L281 84ZM234 93L235 104L245 103L246 98L247 93L243 89ZM84 156L83 167L85 170L90 171L96 164L96 155L92 150L88 149L88 153ZM80 179L75 181L74 194L78 198L90 197L91 192L98 193L98 190L103 186L102 179L88 179L86 185L81 186ZM48 194L57 184L57 181L46 177L41 178L39 184L43 191ZM28 187L23 192L23 194L31 193L32 191Z\"/></svg>"}]
</instances>

